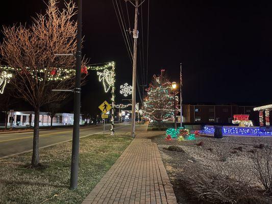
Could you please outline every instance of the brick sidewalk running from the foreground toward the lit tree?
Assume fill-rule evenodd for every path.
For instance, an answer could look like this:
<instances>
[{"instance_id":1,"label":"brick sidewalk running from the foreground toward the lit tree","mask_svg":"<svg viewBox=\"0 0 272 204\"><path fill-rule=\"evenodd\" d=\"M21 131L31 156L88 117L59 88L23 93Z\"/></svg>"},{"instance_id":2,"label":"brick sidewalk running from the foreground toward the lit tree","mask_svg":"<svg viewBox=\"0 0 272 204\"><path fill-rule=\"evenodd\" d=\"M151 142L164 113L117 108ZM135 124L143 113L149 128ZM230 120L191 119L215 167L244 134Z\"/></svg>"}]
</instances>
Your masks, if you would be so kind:
<instances>
[{"instance_id":1,"label":"brick sidewalk running from the foreground toward the lit tree","mask_svg":"<svg viewBox=\"0 0 272 204\"><path fill-rule=\"evenodd\" d=\"M137 134L82 204L177 203L157 144L146 139L156 134Z\"/></svg>"}]
</instances>

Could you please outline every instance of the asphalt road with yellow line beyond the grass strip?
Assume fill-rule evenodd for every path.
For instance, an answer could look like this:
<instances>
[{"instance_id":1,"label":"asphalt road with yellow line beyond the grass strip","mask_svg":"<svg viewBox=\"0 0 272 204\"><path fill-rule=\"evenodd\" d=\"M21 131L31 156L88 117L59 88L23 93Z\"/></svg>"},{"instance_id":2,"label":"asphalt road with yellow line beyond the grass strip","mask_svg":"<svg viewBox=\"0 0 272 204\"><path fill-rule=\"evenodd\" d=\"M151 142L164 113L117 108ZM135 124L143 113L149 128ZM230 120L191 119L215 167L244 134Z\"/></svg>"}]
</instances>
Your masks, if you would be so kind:
<instances>
[{"instance_id":1,"label":"asphalt road with yellow line beyond the grass strip","mask_svg":"<svg viewBox=\"0 0 272 204\"><path fill-rule=\"evenodd\" d=\"M106 124L105 134L110 134L110 124ZM127 134L130 135L131 124L120 123L115 124L115 134ZM144 131L147 129L147 124L136 125L137 131ZM97 126L84 126L80 129L80 137L103 134L103 125ZM40 147L51 146L60 142L68 141L72 139L72 129L56 129L46 130L40 132L39 144ZM12 133L0 135L0 158L16 155L21 152L32 150L33 144L33 132L27 133Z\"/></svg>"}]
</instances>

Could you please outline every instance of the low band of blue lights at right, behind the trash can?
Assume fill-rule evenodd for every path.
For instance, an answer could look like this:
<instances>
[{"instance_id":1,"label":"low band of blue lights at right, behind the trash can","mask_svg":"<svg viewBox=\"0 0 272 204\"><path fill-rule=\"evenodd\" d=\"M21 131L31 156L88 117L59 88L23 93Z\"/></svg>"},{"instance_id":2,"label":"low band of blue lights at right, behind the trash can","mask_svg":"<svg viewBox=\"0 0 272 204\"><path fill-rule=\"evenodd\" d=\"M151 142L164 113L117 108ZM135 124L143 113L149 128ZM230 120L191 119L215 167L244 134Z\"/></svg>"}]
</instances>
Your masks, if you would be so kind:
<instances>
[{"instance_id":1,"label":"low band of blue lights at right, behind the trash can","mask_svg":"<svg viewBox=\"0 0 272 204\"><path fill-rule=\"evenodd\" d=\"M213 126L205 126L204 127L205 134L213 134L214 127ZM239 127L239 126L223 126L223 134L224 135L260 135L272 136L272 132L260 132L259 127Z\"/></svg>"}]
</instances>

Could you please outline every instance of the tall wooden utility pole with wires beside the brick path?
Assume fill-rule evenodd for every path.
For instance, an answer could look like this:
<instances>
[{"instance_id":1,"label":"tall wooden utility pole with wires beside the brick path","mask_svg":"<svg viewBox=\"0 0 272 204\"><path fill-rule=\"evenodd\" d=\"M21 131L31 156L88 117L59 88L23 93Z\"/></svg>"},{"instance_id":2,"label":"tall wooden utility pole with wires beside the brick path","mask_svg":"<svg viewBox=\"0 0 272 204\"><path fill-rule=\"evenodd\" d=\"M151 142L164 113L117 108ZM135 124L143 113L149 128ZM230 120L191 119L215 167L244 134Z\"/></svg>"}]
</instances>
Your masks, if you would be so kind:
<instances>
[{"instance_id":1,"label":"tall wooden utility pole with wires beside the brick path","mask_svg":"<svg viewBox=\"0 0 272 204\"><path fill-rule=\"evenodd\" d=\"M133 72L132 72L132 111L131 111L131 137L135 137L135 105L136 105L136 65L137 65L137 39L138 39L138 7L139 0L135 0L135 19L133 30Z\"/></svg>"}]
</instances>

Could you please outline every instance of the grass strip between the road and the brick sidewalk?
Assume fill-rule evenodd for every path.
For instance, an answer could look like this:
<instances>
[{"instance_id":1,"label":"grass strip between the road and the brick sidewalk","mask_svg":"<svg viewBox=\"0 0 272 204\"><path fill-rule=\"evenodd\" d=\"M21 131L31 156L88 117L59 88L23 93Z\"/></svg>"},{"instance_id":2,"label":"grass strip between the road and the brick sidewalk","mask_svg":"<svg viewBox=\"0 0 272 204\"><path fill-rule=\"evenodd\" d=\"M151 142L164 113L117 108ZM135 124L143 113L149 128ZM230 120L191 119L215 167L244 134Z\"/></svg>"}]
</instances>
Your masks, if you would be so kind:
<instances>
[{"instance_id":1,"label":"grass strip between the road and the brick sidewalk","mask_svg":"<svg viewBox=\"0 0 272 204\"><path fill-rule=\"evenodd\" d=\"M68 189L71 142L40 149L40 169L26 168L31 153L0 160L0 203L81 203L131 141L103 135L80 139L76 190Z\"/></svg>"}]
</instances>

